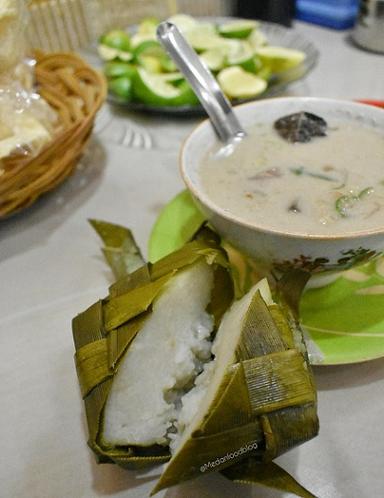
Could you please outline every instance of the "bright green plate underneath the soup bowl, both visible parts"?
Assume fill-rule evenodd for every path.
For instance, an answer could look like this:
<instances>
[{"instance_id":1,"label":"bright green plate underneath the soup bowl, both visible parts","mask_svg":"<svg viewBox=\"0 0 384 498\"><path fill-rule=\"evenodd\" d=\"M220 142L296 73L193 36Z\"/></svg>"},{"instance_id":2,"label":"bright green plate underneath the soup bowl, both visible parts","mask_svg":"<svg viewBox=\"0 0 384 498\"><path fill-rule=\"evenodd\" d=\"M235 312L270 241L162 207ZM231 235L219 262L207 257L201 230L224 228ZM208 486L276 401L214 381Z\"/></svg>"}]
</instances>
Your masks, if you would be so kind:
<instances>
[{"instance_id":1,"label":"bright green plate underneath the soup bowl, both visible parts","mask_svg":"<svg viewBox=\"0 0 384 498\"><path fill-rule=\"evenodd\" d=\"M154 262L181 247L204 221L187 191L162 210L149 239ZM305 291L300 304L314 365L338 365L384 356L384 258L341 272Z\"/></svg>"}]
</instances>

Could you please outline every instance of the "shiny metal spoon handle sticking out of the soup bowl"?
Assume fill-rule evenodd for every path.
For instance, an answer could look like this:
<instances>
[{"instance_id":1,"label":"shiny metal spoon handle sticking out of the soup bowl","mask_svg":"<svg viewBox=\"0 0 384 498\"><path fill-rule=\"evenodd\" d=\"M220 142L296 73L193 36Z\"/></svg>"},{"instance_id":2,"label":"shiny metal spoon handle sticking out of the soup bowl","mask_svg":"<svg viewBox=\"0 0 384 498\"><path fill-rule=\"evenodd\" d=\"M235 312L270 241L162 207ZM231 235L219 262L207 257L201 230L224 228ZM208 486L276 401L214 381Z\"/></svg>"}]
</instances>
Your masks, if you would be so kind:
<instances>
[{"instance_id":1,"label":"shiny metal spoon handle sticking out of the soup bowl","mask_svg":"<svg viewBox=\"0 0 384 498\"><path fill-rule=\"evenodd\" d=\"M228 143L245 136L217 81L178 28L170 22L162 22L157 27L157 38L195 91L219 139Z\"/></svg>"}]
</instances>

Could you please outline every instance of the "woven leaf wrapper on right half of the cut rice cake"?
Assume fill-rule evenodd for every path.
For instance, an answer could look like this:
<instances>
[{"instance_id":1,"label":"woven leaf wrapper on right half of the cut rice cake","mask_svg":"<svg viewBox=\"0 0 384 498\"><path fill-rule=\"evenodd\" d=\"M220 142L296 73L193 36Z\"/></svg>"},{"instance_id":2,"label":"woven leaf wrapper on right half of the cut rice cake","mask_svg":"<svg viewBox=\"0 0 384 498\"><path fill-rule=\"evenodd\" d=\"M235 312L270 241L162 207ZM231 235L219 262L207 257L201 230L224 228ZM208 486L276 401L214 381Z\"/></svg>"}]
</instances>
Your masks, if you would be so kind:
<instances>
[{"instance_id":1,"label":"woven leaf wrapper on right half of the cut rice cake","mask_svg":"<svg viewBox=\"0 0 384 498\"><path fill-rule=\"evenodd\" d=\"M267 306L258 292L242 320L235 357L199 430L166 466L153 494L233 465L237 471L228 476L241 481L249 458L259 469L317 435L313 376L300 329L285 307ZM244 454L252 443L257 447ZM275 487L288 490L283 481L276 474ZM253 482L259 482L256 473Z\"/></svg>"}]
</instances>

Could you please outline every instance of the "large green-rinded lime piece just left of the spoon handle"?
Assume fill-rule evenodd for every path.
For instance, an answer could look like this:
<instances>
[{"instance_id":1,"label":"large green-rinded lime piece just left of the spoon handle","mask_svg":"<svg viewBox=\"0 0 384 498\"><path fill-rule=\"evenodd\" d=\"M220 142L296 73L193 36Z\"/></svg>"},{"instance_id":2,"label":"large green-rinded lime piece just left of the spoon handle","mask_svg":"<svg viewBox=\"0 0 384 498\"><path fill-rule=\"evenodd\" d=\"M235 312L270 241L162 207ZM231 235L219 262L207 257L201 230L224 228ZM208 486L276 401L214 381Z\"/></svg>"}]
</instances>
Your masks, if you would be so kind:
<instances>
[{"instance_id":1,"label":"large green-rinded lime piece just left of the spoon handle","mask_svg":"<svg viewBox=\"0 0 384 498\"><path fill-rule=\"evenodd\" d=\"M182 82L176 87L165 81L163 76L138 68L133 79L135 98L153 106L180 106L198 103L196 95L186 82Z\"/></svg>"}]
</instances>

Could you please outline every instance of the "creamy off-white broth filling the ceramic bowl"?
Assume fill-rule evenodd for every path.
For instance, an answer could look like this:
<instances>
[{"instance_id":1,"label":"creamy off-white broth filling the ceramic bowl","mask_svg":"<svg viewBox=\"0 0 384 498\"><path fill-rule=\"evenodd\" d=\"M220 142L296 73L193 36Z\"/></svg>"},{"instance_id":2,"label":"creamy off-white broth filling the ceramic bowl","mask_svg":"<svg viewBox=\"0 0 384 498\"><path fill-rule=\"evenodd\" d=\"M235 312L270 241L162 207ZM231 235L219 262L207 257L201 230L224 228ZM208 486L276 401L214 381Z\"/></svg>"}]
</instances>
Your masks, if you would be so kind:
<instances>
[{"instance_id":1,"label":"creamy off-white broth filling the ceramic bowl","mask_svg":"<svg viewBox=\"0 0 384 498\"><path fill-rule=\"evenodd\" d=\"M384 226L384 133L328 123L327 136L290 143L255 125L229 157L220 145L200 165L206 195L246 222L300 234Z\"/></svg>"}]
</instances>

